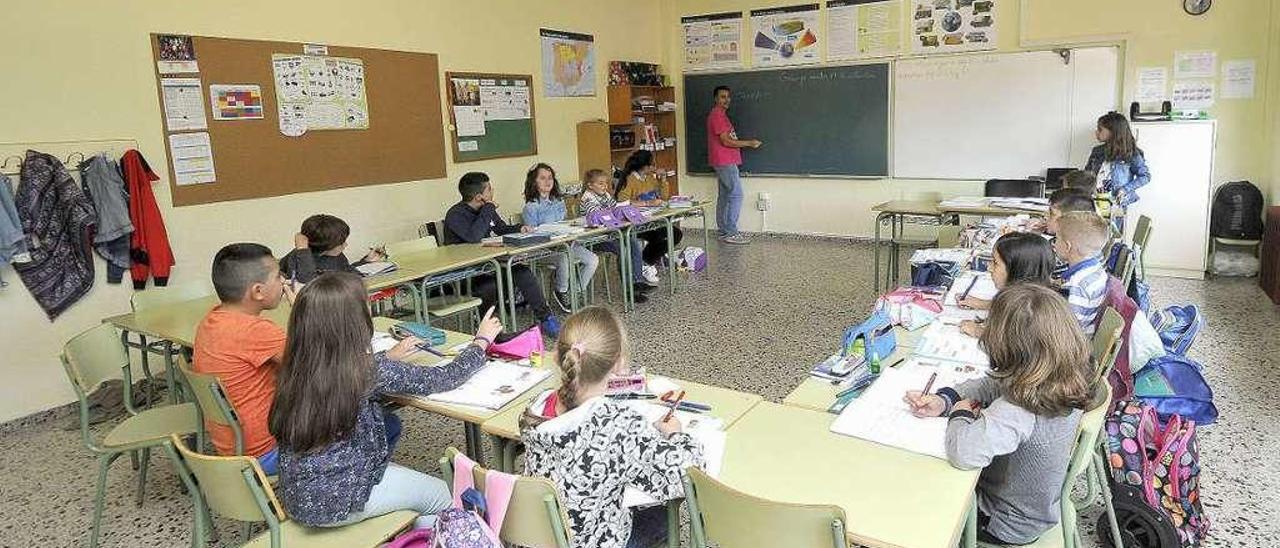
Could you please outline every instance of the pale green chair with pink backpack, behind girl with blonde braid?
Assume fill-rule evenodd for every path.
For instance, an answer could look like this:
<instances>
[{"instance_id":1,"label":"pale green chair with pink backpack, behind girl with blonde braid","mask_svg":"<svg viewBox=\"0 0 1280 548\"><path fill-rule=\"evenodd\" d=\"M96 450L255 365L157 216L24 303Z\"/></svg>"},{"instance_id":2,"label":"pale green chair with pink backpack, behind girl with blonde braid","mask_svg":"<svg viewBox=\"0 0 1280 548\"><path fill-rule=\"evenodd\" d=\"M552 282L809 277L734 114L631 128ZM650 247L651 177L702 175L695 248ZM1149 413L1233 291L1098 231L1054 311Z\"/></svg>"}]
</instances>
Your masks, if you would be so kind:
<instances>
[{"instance_id":1,"label":"pale green chair with pink backpack, behind girl with blonde braid","mask_svg":"<svg viewBox=\"0 0 1280 548\"><path fill-rule=\"evenodd\" d=\"M440 457L444 483L453 487L453 457L458 449L451 447ZM472 470L475 485L484 489L488 471L480 466ZM556 484L545 478L520 476L507 506L498 536L503 543L530 548L568 548L568 516L559 502Z\"/></svg>"}]
</instances>

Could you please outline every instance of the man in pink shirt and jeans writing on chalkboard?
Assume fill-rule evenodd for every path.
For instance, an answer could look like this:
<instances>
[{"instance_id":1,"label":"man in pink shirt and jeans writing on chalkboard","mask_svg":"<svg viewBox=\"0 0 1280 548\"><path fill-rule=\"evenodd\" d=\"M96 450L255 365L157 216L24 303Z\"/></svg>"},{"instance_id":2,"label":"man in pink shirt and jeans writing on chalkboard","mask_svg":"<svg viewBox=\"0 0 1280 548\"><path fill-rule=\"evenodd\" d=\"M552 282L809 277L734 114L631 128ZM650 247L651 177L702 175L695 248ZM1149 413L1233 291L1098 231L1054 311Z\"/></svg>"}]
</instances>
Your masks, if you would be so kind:
<instances>
[{"instance_id":1,"label":"man in pink shirt and jeans writing on chalkboard","mask_svg":"<svg viewBox=\"0 0 1280 548\"><path fill-rule=\"evenodd\" d=\"M741 141L733 132L733 123L728 120L728 86L717 86L712 93L716 96L716 106L707 115L707 156L719 179L716 224L719 227L721 242L744 246L751 241L737 232L737 215L742 211L742 179L737 172L737 166L742 164L742 151L739 149L759 149L760 141Z\"/></svg>"}]
</instances>

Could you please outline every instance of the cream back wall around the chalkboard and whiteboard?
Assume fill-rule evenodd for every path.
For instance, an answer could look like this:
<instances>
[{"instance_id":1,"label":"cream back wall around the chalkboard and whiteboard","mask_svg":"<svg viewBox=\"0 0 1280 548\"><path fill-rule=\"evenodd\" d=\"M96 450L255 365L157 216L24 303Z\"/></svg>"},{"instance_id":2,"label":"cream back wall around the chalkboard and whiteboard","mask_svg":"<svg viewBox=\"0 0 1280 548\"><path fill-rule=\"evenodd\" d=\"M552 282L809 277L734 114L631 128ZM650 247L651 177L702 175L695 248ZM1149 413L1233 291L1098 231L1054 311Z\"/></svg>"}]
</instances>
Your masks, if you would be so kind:
<instances>
[{"instance_id":1,"label":"cream back wall around the chalkboard and whiteboard","mask_svg":"<svg viewBox=\"0 0 1280 548\"><path fill-rule=\"evenodd\" d=\"M682 61L684 33L680 29L682 15L748 12L771 5L797 4L758 0L662 1L663 26L672 29L667 36L666 64L673 73L680 72ZM997 44L1000 51L1014 51L1044 49L1050 45L1126 40L1123 105L1128 105L1133 97L1137 67L1166 65L1171 69L1175 50L1213 49L1219 50L1220 59L1257 59L1256 97L1220 100L1212 111L1221 120L1215 182L1248 179L1267 192L1271 179L1280 181L1280 172L1274 172L1270 160L1272 155L1268 152L1274 149L1266 145L1271 133L1275 133L1275 124L1271 128L1267 125L1266 82L1270 73L1267 68L1280 64L1280 60L1275 60L1275 55L1268 52L1268 35L1275 35L1274 29L1268 29L1271 12L1276 10L1272 4L1280 3L1275 0L1215 3L1207 15L1193 18L1183 13L1181 3L1169 0L1023 0L1020 3L998 0L996 9L1001 27ZM676 78L676 82L678 86L680 79ZM1270 100L1280 102L1280 95L1271 93ZM1128 110L1128 106L1124 110ZM686 114L704 115L682 113ZM684 128L684 123L680 127ZM786 136L741 137L760 138L765 146L771 138L787 138ZM1083 166L1085 159L1078 160ZM684 159L681 161L682 165L687 165ZM852 237L872 234L874 215L870 207L882 201L982 192L982 184L973 181L892 178L876 181L745 178L744 187L746 201L740 222L744 230ZM712 196L716 193L716 179L682 177L681 189ZM772 210L763 215L755 210L759 192L768 192L772 198Z\"/></svg>"}]
</instances>

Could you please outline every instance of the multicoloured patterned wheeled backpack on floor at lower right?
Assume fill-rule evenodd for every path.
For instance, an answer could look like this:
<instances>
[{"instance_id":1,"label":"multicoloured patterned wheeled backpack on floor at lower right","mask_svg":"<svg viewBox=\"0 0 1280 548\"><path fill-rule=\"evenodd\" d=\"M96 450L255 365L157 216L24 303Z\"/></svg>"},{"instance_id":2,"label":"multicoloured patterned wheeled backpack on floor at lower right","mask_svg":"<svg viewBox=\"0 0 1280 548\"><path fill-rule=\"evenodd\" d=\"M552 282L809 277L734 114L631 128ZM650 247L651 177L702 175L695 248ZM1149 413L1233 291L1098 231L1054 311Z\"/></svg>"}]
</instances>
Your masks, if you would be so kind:
<instances>
[{"instance_id":1,"label":"multicoloured patterned wheeled backpack on floor at lower right","mask_svg":"<svg viewBox=\"0 0 1280 548\"><path fill-rule=\"evenodd\" d=\"M1176 531L1170 538L1176 538L1179 545L1198 547L1208 534L1210 520L1201 506L1196 423L1174 415L1162 428L1155 407L1120 401L1106 429L1114 483L1138 490L1147 506L1167 516L1165 524Z\"/></svg>"}]
</instances>

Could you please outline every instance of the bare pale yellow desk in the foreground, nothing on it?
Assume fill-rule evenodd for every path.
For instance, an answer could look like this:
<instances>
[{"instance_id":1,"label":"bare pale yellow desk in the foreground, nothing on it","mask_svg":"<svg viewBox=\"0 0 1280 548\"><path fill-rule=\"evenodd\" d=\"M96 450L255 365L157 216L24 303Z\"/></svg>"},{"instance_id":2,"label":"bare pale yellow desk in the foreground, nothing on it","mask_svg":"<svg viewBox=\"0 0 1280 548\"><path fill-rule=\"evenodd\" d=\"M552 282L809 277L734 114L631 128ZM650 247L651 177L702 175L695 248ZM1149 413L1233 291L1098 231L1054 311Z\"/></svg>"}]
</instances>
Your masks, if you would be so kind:
<instances>
[{"instance_id":1,"label":"bare pale yellow desk in the foreground, nothing on it","mask_svg":"<svg viewBox=\"0 0 1280 548\"><path fill-rule=\"evenodd\" d=\"M836 504L869 547L974 545L978 471L829 431L835 415L762 402L728 429L719 480L771 501ZM964 535L961 535L964 533Z\"/></svg>"}]
</instances>

